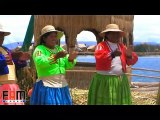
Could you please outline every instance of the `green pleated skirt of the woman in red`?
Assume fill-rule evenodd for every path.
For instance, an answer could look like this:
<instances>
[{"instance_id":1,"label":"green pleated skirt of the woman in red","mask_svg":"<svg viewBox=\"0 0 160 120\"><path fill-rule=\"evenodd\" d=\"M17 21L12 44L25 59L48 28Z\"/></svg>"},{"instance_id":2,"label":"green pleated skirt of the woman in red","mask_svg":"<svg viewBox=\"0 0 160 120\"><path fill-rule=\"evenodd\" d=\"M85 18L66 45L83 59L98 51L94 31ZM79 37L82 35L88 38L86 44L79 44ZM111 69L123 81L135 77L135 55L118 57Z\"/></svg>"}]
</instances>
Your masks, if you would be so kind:
<instances>
[{"instance_id":1,"label":"green pleated skirt of the woman in red","mask_svg":"<svg viewBox=\"0 0 160 120\"><path fill-rule=\"evenodd\" d=\"M88 105L131 105L128 78L96 73L90 84Z\"/></svg>"}]
</instances>

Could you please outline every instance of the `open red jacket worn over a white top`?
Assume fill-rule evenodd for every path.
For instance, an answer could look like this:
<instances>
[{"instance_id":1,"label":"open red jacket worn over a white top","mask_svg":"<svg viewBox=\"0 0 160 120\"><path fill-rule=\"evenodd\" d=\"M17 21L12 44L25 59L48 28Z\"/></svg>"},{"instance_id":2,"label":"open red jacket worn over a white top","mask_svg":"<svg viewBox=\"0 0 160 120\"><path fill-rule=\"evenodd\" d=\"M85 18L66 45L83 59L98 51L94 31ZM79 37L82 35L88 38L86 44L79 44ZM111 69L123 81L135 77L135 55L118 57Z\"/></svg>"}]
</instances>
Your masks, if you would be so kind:
<instances>
[{"instance_id":1,"label":"open red jacket worn over a white top","mask_svg":"<svg viewBox=\"0 0 160 120\"><path fill-rule=\"evenodd\" d=\"M132 58L129 59L125 55L126 46L122 43L119 43L118 47L122 52L122 55L120 56L122 62L122 69L124 72L126 72L126 64L134 65L138 61L138 56L135 52L132 52ZM111 62L112 59L114 59L112 58L111 53L112 50L110 49L106 41L103 41L96 46L96 70L107 71L111 69Z\"/></svg>"}]
</instances>

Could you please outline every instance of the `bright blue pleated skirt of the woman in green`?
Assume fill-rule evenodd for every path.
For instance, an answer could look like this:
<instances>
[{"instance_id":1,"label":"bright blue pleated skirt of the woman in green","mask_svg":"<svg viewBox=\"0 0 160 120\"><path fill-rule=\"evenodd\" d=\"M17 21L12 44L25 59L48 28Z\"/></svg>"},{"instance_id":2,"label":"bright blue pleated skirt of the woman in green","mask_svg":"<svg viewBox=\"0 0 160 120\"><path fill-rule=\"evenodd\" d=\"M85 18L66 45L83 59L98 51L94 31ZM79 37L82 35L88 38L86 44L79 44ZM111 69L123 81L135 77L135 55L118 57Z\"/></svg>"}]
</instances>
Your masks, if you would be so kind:
<instances>
[{"instance_id":1,"label":"bright blue pleated skirt of the woman in green","mask_svg":"<svg viewBox=\"0 0 160 120\"><path fill-rule=\"evenodd\" d=\"M68 86L52 88L43 85L43 81L36 82L33 87L31 105L72 105Z\"/></svg>"}]
</instances>

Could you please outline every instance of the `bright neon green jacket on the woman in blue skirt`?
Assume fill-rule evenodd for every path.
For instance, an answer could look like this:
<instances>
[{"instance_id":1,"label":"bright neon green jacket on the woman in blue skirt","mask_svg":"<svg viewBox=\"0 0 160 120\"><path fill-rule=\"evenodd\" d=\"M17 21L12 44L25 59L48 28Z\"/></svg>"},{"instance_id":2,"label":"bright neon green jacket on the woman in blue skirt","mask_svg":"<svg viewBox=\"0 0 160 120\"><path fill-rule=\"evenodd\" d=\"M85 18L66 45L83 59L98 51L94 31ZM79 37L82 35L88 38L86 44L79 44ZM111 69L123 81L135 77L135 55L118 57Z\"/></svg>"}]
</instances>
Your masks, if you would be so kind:
<instances>
[{"instance_id":1,"label":"bright neon green jacket on the woman in blue skirt","mask_svg":"<svg viewBox=\"0 0 160 120\"><path fill-rule=\"evenodd\" d=\"M53 61L53 58L50 59L54 54L64 50L60 46L55 46L54 50L47 48L44 45L39 45L33 52L33 60L36 66L38 78L47 77L58 74L65 74L66 69L72 69L76 64L76 59L73 63L68 61L69 54L64 58L59 58L56 62Z\"/></svg>"}]
</instances>

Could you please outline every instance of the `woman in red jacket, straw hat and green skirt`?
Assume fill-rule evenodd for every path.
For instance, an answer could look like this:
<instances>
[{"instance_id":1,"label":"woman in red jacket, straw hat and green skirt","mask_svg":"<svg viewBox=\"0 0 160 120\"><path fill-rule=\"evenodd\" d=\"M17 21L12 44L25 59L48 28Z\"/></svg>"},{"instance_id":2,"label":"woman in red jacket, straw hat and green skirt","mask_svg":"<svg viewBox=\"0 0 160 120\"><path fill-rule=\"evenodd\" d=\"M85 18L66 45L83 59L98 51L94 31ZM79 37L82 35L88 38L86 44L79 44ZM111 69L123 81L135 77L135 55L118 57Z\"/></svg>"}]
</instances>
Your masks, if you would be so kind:
<instances>
[{"instance_id":1,"label":"woman in red jacket, straw hat and green skirt","mask_svg":"<svg viewBox=\"0 0 160 120\"><path fill-rule=\"evenodd\" d=\"M125 75L126 65L134 65L138 56L133 47L121 42L124 32L109 24L100 33L104 41L95 50L96 71L88 94L89 105L130 105L131 92Z\"/></svg>"}]
</instances>

